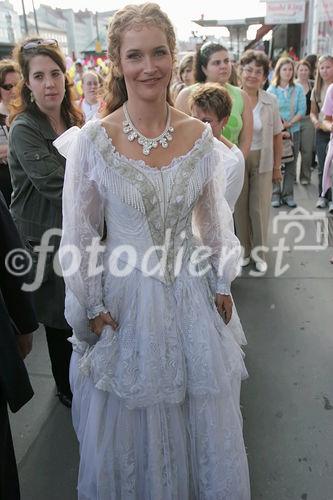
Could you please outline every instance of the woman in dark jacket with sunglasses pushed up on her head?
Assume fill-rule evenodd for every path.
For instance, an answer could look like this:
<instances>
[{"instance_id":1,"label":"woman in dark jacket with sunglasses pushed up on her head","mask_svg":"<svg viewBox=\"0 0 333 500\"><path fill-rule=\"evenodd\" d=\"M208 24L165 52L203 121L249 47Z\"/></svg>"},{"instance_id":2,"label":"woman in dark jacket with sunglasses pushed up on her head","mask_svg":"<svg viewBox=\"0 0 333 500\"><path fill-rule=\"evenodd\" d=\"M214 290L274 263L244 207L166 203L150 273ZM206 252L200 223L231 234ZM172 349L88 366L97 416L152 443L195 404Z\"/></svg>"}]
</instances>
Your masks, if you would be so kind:
<instances>
[{"instance_id":1,"label":"woman in dark jacket with sunglasses pushed up on her head","mask_svg":"<svg viewBox=\"0 0 333 500\"><path fill-rule=\"evenodd\" d=\"M57 395L70 406L72 349L67 338L72 332L64 317L64 282L54 260L61 236L65 161L52 143L72 125L82 125L83 116L73 105L64 54L56 40L25 40L15 47L14 56L22 80L10 115L11 212L31 255L33 302L45 326ZM45 240L48 230L51 236Z\"/></svg>"}]
</instances>

